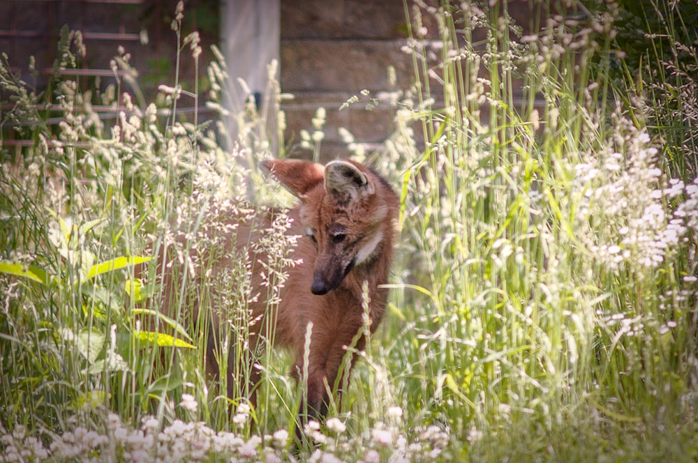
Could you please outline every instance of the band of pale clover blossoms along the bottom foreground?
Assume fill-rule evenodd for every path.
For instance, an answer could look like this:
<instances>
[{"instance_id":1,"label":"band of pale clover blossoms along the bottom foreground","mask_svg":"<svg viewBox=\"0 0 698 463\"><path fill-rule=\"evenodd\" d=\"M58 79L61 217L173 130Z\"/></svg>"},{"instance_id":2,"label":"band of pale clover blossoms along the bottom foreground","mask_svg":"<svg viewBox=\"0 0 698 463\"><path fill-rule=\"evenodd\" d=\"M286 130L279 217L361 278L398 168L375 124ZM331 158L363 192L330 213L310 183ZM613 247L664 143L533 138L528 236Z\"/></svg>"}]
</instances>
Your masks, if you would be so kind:
<instances>
[{"instance_id":1,"label":"band of pale clover blossoms along the bottom foreground","mask_svg":"<svg viewBox=\"0 0 698 463\"><path fill-rule=\"evenodd\" d=\"M194 397L184 394L182 407L194 407ZM238 407L237 413L246 415L249 408ZM329 418L323 427L311 421L304 428L317 448L307 457L309 462L339 463L362 461L366 463L431 462L439 459L447 446L450 434L431 425L417 428L415 440L408 442L400 431L402 409L391 407L387 416L393 425L377 423L369 432L357 437L348 436L347 426L339 418ZM247 417L247 415L246 415ZM162 427L156 418L145 417L137 430L131 430L121 418L110 413L106 418L105 434L84 427L52 436L45 447L36 437L30 437L22 425L8 432L0 425L0 463L41 461L55 462L191 462L227 461L279 463L297 461L301 455L289 452L289 434L278 430L263 437L245 438L235 432L216 432L201 422L181 420Z\"/></svg>"}]
</instances>

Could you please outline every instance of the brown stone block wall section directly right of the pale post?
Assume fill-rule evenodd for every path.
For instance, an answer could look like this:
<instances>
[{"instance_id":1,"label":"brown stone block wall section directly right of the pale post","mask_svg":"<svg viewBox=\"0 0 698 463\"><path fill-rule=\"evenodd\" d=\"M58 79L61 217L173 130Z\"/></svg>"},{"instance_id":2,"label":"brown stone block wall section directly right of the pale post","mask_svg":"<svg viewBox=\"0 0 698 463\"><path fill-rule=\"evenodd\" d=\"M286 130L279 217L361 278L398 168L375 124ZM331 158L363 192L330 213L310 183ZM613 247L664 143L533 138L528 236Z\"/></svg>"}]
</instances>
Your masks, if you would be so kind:
<instances>
[{"instance_id":1,"label":"brown stone block wall section directly right of the pale post","mask_svg":"<svg viewBox=\"0 0 698 463\"><path fill-rule=\"evenodd\" d=\"M392 109L339 108L364 89L372 95L390 90L388 66L396 70L397 86L410 84L412 61L401 52L407 31L402 0L281 0L281 89L295 96L283 105L290 155L311 155L299 147L298 133L312 132L318 107L327 110L323 160L347 154L340 127L359 142L385 140Z\"/></svg>"}]
</instances>

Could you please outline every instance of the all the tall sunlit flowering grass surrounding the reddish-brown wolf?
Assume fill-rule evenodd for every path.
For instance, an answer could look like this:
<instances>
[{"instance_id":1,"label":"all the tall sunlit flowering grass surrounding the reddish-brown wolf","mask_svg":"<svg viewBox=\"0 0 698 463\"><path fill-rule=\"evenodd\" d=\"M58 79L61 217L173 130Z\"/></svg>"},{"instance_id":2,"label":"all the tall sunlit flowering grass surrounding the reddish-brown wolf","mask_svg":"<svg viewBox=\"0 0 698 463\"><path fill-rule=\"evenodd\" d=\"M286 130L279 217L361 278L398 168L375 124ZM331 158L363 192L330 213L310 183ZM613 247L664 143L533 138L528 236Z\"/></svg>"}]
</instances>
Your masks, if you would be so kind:
<instances>
[{"instance_id":1,"label":"all the tall sunlit flowering grass surrounding the reddish-brown wolf","mask_svg":"<svg viewBox=\"0 0 698 463\"><path fill-rule=\"evenodd\" d=\"M181 98L203 96L177 74L158 107L119 75L99 93L55 79L38 96L3 64L8 116L35 144L2 153L0 460L695 458L690 29L628 21L649 29L633 40L655 45L633 61L622 48L632 27L617 22L632 8L532 2L523 35L507 3L490 3L406 3L415 84L391 96L397 130L366 156L402 199L390 314L358 353L343 407L306 428L317 446L299 455L288 359L245 349L250 263L207 273L236 233L211 218L253 220L250 199L285 201L244 167L283 150L276 82L271 106L228 114L225 63L211 63L211 126L179 114ZM673 18L681 8L643 5ZM198 67L182 14L178 62ZM81 36L66 29L60 50L57 66L77 66ZM131 75L126 51L113 66ZM97 99L114 125L91 111ZM57 128L37 112L45 101L61 105ZM313 157L324 119L301 137ZM279 257L271 294L289 264L287 226L279 215L260 244ZM151 284L162 268L143 283L134 268L164 248L184 282L172 292ZM260 374L258 407L247 381L230 403L206 377L209 319L191 329L192 298L200 314L235 320L219 340L239 348L217 355L236 376Z\"/></svg>"}]
</instances>

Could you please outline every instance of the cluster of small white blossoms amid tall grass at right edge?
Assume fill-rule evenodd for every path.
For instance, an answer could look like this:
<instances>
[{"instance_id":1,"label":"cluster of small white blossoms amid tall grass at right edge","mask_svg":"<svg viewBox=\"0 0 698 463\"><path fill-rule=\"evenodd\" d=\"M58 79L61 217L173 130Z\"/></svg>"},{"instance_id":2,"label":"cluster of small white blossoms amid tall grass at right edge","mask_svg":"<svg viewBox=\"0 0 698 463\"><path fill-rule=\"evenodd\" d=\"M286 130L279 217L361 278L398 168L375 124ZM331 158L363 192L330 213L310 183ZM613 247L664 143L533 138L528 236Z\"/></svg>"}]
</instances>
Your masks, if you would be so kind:
<instances>
[{"instance_id":1,"label":"cluster of small white blossoms amid tall grass at right edge","mask_svg":"<svg viewBox=\"0 0 698 463\"><path fill-rule=\"evenodd\" d=\"M583 197L577 225L588 232L581 240L599 264L655 268L696 230L698 197L693 186L664 179L645 132L631 133L624 144L625 154L596 155L575 166L576 194ZM688 200L672 217L667 204L683 194Z\"/></svg>"}]
</instances>

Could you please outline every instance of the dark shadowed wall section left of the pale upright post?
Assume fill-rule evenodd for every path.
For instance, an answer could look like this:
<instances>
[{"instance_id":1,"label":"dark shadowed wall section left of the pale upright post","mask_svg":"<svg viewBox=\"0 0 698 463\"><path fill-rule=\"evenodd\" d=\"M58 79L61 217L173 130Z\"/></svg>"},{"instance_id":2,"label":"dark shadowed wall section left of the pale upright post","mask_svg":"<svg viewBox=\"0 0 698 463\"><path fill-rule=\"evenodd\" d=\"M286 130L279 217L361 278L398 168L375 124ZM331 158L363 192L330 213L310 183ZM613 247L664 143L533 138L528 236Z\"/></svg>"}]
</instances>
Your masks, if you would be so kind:
<instances>
[{"instance_id":1,"label":"dark shadowed wall section left of the pale upright post","mask_svg":"<svg viewBox=\"0 0 698 463\"><path fill-rule=\"evenodd\" d=\"M100 76L101 85L114 82L110 60L119 45L131 54L131 64L139 73L144 93L154 93L158 84L174 82L172 69L177 55L177 38L170 29L176 0L0 0L0 52L8 55L10 68L33 83L27 71L29 56L36 59L45 86L45 75L52 73L57 56L61 27L81 31L87 56L80 66L82 79ZM211 43L218 42L218 0L186 1L183 35L200 31L205 64L212 59ZM73 48L74 50L74 48ZM193 76L191 54L183 54L181 75L187 85ZM185 56L187 55L187 56ZM128 87L124 87L124 91Z\"/></svg>"}]
</instances>

